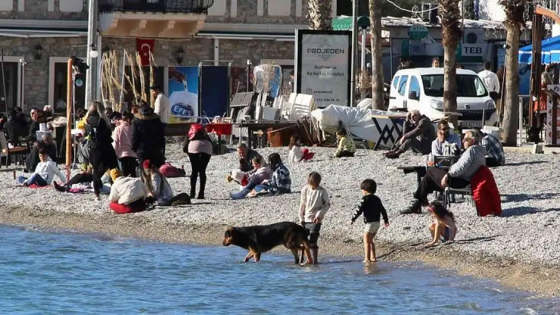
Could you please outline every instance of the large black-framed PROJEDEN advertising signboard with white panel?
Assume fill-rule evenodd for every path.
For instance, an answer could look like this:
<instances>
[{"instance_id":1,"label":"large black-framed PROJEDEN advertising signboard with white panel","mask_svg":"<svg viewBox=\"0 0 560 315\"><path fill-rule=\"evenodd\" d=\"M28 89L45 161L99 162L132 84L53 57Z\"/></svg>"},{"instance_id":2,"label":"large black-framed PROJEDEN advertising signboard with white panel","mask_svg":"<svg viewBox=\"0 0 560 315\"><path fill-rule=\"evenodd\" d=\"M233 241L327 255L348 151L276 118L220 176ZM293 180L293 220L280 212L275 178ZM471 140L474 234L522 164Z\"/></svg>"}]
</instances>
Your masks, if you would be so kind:
<instances>
[{"instance_id":1,"label":"large black-framed PROJEDEN advertising signboard with white panel","mask_svg":"<svg viewBox=\"0 0 560 315\"><path fill-rule=\"evenodd\" d=\"M350 31L296 30L296 93L312 95L315 106L348 106L350 101Z\"/></svg>"}]
</instances>

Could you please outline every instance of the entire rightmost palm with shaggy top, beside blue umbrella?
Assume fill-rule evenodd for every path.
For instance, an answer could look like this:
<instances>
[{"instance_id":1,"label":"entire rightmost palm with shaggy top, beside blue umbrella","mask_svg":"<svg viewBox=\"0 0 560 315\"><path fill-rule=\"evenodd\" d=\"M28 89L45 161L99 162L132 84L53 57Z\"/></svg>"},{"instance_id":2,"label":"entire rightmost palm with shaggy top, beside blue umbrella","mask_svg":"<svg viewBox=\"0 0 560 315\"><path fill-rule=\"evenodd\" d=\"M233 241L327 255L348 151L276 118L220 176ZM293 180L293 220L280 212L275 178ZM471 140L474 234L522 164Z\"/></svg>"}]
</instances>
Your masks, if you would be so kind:
<instances>
[{"instance_id":1,"label":"entire rightmost palm with shaggy top, beside blue umbrella","mask_svg":"<svg viewBox=\"0 0 560 315\"><path fill-rule=\"evenodd\" d=\"M519 36L525 27L523 13L526 0L501 0L498 2L506 12L506 96L503 106L502 141L506 145L517 143L517 117L519 116Z\"/></svg>"}]
</instances>

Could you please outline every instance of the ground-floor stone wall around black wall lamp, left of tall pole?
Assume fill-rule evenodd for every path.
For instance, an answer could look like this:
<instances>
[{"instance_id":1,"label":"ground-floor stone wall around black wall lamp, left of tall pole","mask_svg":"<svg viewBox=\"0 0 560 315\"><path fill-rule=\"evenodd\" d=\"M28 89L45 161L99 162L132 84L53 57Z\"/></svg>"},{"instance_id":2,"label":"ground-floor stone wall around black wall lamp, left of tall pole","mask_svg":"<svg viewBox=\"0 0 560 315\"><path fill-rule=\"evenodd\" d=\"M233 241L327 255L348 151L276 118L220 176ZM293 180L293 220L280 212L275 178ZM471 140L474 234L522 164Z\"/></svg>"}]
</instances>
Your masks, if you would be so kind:
<instances>
[{"instance_id":1,"label":"ground-floor stone wall around black wall lamp, left of tall pole","mask_svg":"<svg viewBox=\"0 0 560 315\"><path fill-rule=\"evenodd\" d=\"M35 60L35 45L43 46L40 60ZM0 49L4 56L24 57L27 64L24 71L24 110L43 107L48 104L49 58L78 55L85 57L85 37L19 38L0 37Z\"/></svg>"}]
</instances>

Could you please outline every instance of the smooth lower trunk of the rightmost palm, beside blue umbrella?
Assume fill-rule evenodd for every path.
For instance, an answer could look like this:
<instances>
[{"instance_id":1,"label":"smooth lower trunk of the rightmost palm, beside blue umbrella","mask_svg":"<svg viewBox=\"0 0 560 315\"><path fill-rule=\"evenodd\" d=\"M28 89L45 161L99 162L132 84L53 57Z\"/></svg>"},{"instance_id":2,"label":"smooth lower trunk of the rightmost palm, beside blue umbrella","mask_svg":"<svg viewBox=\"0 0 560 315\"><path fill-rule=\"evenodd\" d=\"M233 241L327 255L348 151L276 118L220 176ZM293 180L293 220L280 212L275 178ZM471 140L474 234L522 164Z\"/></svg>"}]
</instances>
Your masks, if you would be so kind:
<instances>
[{"instance_id":1,"label":"smooth lower trunk of the rightmost palm, beside blue umbrella","mask_svg":"<svg viewBox=\"0 0 560 315\"><path fill-rule=\"evenodd\" d=\"M519 127L519 26L507 25L506 46L506 95L503 100L502 142L517 145L517 128Z\"/></svg>"}]
</instances>

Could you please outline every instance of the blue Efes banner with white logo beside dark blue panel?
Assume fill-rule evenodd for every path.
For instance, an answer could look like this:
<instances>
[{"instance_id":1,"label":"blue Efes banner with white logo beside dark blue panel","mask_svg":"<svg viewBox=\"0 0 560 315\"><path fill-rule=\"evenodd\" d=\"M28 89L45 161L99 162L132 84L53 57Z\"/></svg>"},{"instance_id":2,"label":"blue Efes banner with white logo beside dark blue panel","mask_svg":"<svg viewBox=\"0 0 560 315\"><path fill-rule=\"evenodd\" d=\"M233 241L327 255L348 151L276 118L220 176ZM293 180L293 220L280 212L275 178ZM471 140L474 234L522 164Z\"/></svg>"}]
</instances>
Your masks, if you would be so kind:
<instances>
[{"instance_id":1,"label":"blue Efes banner with white logo beside dark blue panel","mask_svg":"<svg viewBox=\"0 0 560 315\"><path fill-rule=\"evenodd\" d=\"M198 67L169 67L169 104L170 124L197 120Z\"/></svg>"}]
</instances>

